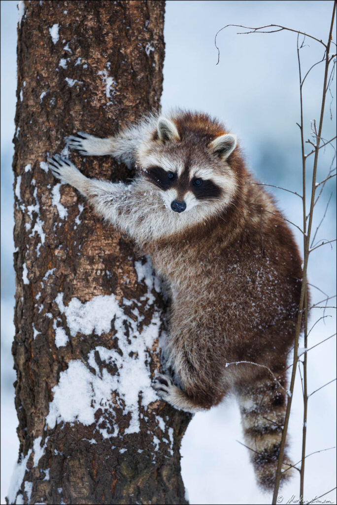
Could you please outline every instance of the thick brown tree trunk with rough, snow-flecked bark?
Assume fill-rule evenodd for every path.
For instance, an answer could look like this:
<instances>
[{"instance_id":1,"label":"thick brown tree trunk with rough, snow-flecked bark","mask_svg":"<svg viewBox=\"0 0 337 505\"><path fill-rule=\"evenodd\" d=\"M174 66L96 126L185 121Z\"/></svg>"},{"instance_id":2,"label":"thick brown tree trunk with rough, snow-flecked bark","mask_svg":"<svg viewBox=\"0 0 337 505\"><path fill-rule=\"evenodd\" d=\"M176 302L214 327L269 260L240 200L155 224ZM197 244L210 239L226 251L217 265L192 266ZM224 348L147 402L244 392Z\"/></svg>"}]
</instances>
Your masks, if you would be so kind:
<instances>
[{"instance_id":1,"label":"thick brown tree trunk with rough, snow-flecked bark","mask_svg":"<svg viewBox=\"0 0 337 505\"><path fill-rule=\"evenodd\" d=\"M165 331L160 282L46 157L64 137L108 136L157 111L164 2L19 6L15 156L16 409L10 503L187 503L190 415L151 377ZM89 177L127 181L110 157L71 154Z\"/></svg>"}]
</instances>

